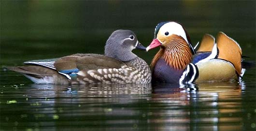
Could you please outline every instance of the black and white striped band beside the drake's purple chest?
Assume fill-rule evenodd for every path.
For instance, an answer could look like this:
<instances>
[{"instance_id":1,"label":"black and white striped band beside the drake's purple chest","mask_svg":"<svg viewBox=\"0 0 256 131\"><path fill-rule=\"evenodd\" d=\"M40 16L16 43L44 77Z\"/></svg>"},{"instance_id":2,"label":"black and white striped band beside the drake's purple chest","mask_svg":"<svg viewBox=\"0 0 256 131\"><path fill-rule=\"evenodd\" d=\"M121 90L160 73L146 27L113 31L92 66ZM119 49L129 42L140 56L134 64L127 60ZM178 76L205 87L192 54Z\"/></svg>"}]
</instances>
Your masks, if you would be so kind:
<instances>
[{"instance_id":1,"label":"black and white striped band beside the drake's purple chest","mask_svg":"<svg viewBox=\"0 0 256 131\"><path fill-rule=\"evenodd\" d=\"M198 67L193 63L189 63L186 69L183 71L183 74L179 82L180 84L194 83L194 81L198 78L198 76L199 76Z\"/></svg>"}]
</instances>

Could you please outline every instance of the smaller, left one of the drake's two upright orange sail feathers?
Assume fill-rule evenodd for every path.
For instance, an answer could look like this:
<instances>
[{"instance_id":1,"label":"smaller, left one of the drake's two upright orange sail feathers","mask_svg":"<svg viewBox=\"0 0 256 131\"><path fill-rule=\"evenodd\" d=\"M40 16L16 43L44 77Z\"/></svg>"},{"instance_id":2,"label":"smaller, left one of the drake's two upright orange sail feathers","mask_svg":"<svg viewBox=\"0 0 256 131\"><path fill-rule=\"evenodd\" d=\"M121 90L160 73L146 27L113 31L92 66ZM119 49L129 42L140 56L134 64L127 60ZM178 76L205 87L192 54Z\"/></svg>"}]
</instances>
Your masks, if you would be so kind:
<instances>
[{"instance_id":1,"label":"smaller, left one of the drake's two upright orange sail feathers","mask_svg":"<svg viewBox=\"0 0 256 131\"><path fill-rule=\"evenodd\" d=\"M200 42L200 47L198 48L197 52L208 52L213 50L214 45L214 37L205 34Z\"/></svg>"}]
</instances>

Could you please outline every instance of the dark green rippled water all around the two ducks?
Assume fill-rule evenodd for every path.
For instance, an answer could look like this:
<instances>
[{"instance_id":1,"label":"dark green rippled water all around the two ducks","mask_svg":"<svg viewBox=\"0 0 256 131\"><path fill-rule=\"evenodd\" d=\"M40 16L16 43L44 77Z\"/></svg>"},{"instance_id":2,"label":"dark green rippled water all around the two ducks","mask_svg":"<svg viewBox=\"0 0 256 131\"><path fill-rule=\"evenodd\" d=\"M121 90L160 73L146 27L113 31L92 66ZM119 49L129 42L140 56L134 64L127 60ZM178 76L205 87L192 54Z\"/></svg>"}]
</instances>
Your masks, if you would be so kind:
<instances>
[{"instance_id":1,"label":"dark green rippled water all around the two ducks","mask_svg":"<svg viewBox=\"0 0 256 131\"><path fill-rule=\"evenodd\" d=\"M0 1L0 131L255 131L256 70L241 83L34 84L3 66L99 53L116 29L147 46L156 24L174 20L193 45L223 31L256 59L256 2ZM158 49L134 52L151 62Z\"/></svg>"}]
</instances>

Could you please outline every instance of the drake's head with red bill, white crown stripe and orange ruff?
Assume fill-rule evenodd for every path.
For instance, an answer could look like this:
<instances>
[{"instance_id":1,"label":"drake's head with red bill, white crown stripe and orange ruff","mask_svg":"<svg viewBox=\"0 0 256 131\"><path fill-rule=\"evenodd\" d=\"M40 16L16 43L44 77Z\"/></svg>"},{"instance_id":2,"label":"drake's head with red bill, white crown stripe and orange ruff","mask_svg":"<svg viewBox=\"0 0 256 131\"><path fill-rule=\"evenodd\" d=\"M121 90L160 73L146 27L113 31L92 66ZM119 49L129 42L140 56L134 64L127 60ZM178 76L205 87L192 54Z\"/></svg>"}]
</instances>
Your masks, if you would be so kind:
<instances>
[{"instance_id":1,"label":"drake's head with red bill, white crown stripe and orange ruff","mask_svg":"<svg viewBox=\"0 0 256 131\"><path fill-rule=\"evenodd\" d=\"M160 50L151 66L154 66L156 61L163 57L171 67L184 69L195 54L185 28L182 24L172 21L156 25L154 39L146 50L156 47L160 47Z\"/></svg>"}]
</instances>

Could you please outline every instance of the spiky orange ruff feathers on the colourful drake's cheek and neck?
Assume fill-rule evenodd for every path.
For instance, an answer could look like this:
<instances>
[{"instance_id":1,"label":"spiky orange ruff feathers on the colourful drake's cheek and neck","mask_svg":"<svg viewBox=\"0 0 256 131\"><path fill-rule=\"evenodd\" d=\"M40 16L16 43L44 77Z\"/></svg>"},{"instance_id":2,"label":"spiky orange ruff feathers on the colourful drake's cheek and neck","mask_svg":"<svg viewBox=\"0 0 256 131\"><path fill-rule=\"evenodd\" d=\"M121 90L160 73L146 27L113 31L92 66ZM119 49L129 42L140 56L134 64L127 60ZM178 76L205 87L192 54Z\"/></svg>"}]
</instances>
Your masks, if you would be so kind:
<instances>
[{"instance_id":1,"label":"spiky orange ruff feathers on the colourful drake's cheek and neck","mask_svg":"<svg viewBox=\"0 0 256 131\"><path fill-rule=\"evenodd\" d=\"M171 68L184 70L193 56L189 45L183 39L172 39L169 43L165 47L161 46L150 66L154 68L157 60L162 58Z\"/></svg>"}]
</instances>

